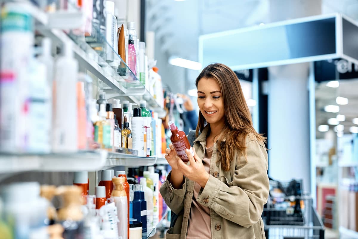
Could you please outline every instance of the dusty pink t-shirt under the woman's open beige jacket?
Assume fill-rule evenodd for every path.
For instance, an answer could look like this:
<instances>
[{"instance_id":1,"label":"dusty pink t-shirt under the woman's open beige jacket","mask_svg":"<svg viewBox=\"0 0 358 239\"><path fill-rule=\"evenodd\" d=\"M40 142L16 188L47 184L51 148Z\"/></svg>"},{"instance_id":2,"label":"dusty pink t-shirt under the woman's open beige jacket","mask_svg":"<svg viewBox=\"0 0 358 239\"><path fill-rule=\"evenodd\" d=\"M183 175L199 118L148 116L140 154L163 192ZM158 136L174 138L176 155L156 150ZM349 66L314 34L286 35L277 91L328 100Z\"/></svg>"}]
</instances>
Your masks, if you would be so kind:
<instances>
[{"instance_id":1,"label":"dusty pink t-shirt under the woman's open beige jacket","mask_svg":"<svg viewBox=\"0 0 358 239\"><path fill-rule=\"evenodd\" d=\"M205 150L203 165L205 170L210 173L210 160L213 153L213 147ZM192 206L188 222L187 239L211 239L210 208L198 203L197 197L201 186L195 183L193 192Z\"/></svg>"}]
</instances>

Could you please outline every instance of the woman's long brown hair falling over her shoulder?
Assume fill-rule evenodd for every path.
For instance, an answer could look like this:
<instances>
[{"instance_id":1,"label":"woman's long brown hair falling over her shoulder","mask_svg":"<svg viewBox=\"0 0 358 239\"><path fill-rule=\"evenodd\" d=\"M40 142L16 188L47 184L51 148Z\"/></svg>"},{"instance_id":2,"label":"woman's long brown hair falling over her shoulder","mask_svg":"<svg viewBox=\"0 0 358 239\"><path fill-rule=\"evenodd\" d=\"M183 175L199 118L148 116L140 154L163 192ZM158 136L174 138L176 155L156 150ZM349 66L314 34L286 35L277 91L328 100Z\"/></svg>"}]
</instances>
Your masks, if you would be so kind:
<instances>
[{"instance_id":1,"label":"woman's long brown hair falling over her shoulder","mask_svg":"<svg viewBox=\"0 0 358 239\"><path fill-rule=\"evenodd\" d=\"M250 110L247 107L239 79L236 74L226 65L221 63L210 64L202 70L195 81L198 83L201 78L212 78L219 83L224 110L225 126L217 138L217 149L219 161L226 171L230 169L230 162L236 150L240 150L246 158L246 136L253 134L258 142L266 142L266 138L257 133L253 128ZM196 136L203 131L205 118L199 111L199 120L196 129ZM224 141L225 140L225 141Z\"/></svg>"}]
</instances>

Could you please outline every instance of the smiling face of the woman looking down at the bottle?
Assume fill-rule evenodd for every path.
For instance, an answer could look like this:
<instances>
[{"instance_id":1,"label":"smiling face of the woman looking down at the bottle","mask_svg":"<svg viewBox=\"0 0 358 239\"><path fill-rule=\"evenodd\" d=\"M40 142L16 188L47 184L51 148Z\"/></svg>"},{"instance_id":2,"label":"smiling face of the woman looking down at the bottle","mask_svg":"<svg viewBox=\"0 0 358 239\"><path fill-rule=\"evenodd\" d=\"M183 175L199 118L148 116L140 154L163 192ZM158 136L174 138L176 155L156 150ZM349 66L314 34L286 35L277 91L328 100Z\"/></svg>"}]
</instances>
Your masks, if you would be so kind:
<instances>
[{"instance_id":1,"label":"smiling face of the woman looking down at the bottle","mask_svg":"<svg viewBox=\"0 0 358 239\"><path fill-rule=\"evenodd\" d=\"M213 78L198 82L198 106L209 124L222 123L225 117L224 102L219 83Z\"/></svg>"}]
</instances>

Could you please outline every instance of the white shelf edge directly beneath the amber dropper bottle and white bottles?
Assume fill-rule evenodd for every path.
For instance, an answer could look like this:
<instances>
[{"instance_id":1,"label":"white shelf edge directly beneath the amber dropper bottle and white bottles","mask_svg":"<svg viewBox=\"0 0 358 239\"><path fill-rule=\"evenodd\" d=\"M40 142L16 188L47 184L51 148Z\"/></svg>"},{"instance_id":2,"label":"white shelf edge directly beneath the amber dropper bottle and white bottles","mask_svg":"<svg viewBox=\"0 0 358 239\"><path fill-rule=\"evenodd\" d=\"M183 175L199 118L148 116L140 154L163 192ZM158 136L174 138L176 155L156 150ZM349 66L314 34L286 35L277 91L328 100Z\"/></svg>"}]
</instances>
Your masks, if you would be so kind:
<instances>
[{"instance_id":1,"label":"white shelf edge directly beneath the amber dropper bottle and white bottles","mask_svg":"<svg viewBox=\"0 0 358 239\"><path fill-rule=\"evenodd\" d=\"M108 152L108 156L103 168L116 166L152 166L156 162L156 157L139 157L132 154Z\"/></svg>"}]
</instances>

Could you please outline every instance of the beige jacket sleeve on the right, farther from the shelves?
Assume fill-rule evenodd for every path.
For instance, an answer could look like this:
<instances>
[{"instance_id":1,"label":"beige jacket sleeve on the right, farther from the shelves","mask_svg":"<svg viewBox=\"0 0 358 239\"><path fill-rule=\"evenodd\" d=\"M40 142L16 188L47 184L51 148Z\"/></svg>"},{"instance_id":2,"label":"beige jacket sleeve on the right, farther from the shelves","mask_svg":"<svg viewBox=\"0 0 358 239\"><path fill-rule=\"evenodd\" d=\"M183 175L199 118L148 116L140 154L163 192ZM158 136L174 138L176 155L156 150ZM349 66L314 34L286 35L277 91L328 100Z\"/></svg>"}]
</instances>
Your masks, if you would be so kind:
<instances>
[{"instance_id":1,"label":"beige jacket sleeve on the right, farther from the shelves","mask_svg":"<svg viewBox=\"0 0 358 239\"><path fill-rule=\"evenodd\" d=\"M247 160L237 156L233 181L226 183L210 175L197 201L223 218L241 226L257 223L269 195L267 152L256 140L246 144Z\"/></svg>"}]
</instances>

